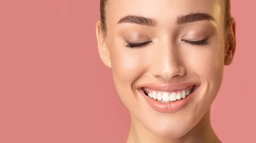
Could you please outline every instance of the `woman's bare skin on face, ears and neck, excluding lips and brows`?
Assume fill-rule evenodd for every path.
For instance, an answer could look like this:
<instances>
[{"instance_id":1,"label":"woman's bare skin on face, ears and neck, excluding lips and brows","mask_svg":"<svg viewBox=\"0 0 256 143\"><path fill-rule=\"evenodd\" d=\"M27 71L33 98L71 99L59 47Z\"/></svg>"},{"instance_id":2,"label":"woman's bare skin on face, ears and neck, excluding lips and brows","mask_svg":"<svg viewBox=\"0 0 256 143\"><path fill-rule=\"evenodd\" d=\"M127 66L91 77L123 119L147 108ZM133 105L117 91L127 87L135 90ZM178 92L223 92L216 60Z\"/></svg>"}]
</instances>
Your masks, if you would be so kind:
<instances>
[{"instance_id":1,"label":"woman's bare skin on face, ears and neck, excluding lips and brows","mask_svg":"<svg viewBox=\"0 0 256 143\"><path fill-rule=\"evenodd\" d=\"M214 20L177 25L177 17L205 13ZM155 20L155 26L119 23L136 15ZM120 99L131 113L127 143L221 143L210 123L210 107L233 61L236 24L224 29L221 0L110 0L106 6L107 33L96 23L99 55L110 67ZM207 44L184 42L207 39ZM149 42L140 48L130 43ZM179 112L151 109L137 87L148 83L197 82L198 92Z\"/></svg>"}]
</instances>

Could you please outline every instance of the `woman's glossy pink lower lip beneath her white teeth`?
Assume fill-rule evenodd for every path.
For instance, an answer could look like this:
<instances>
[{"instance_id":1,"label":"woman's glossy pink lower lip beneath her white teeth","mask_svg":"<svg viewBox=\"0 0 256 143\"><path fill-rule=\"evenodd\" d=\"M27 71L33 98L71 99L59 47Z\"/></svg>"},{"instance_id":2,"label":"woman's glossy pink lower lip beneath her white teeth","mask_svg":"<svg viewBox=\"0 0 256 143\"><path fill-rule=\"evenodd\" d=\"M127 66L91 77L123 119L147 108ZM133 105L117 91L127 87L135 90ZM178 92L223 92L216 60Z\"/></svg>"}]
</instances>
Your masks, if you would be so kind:
<instances>
[{"instance_id":1,"label":"woman's glossy pink lower lip beneath her white teeth","mask_svg":"<svg viewBox=\"0 0 256 143\"><path fill-rule=\"evenodd\" d=\"M171 103L162 103L160 101L156 101L148 97L147 95L145 95L145 93L142 90L139 90L139 91L143 95L143 97L145 98L149 106L155 111L160 113L174 113L174 112L180 111L181 109L183 109L189 104L189 102L195 96L197 89L198 89L198 86L195 86L194 91L190 95L186 96L186 98L184 99L182 98L180 100L176 100Z\"/></svg>"}]
</instances>

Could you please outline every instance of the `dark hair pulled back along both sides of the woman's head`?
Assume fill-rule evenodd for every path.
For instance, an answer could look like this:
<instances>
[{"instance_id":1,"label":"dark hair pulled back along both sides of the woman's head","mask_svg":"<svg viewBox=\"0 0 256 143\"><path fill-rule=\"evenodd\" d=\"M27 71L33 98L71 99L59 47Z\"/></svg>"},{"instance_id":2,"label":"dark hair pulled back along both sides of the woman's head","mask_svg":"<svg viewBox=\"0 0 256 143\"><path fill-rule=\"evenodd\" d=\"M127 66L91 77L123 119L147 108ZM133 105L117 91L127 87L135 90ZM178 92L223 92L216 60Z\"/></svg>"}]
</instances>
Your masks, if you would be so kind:
<instances>
[{"instance_id":1,"label":"dark hair pulled back along both sides of the woman's head","mask_svg":"<svg viewBox=\"0 0 256 143\"><path fill-rule=\"evenodd\" d=\"M222 0L223 1L223 0ZM101 21L101 29L102 34L105 35L107 33L107 26L106 26L106 13L105 13L105 6L107 5L108 0L100 0L100 21ZM231 15L230 15L230 0L224 0L225 6L225 22L224 28L226 33L229 32L230 24L231 24Z\"/></svg>"}]
</instances>

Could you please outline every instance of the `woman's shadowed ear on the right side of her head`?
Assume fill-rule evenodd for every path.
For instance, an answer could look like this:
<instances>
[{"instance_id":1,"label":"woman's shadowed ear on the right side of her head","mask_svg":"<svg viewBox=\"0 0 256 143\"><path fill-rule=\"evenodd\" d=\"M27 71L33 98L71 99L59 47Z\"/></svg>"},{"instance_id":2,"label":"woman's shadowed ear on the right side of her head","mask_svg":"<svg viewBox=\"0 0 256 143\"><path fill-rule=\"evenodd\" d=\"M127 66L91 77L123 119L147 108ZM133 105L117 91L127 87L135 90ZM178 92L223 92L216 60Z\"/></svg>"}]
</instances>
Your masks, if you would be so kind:
<instances>
[{"instance_id":1,"label":"woman's shadowed ear on the right side of her head","mask_svg":"<svg viewBox=\"0 0 256 143\"><path fill-rule=\"evenodd\" d=\"M231 18L231 27L226 36L226 48L225 48L225 65L230 65L233 61L236 51L236 21Z\"/></svg>"}]
</instances>

